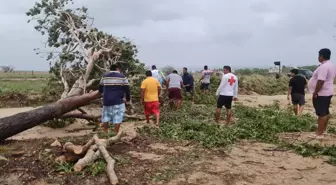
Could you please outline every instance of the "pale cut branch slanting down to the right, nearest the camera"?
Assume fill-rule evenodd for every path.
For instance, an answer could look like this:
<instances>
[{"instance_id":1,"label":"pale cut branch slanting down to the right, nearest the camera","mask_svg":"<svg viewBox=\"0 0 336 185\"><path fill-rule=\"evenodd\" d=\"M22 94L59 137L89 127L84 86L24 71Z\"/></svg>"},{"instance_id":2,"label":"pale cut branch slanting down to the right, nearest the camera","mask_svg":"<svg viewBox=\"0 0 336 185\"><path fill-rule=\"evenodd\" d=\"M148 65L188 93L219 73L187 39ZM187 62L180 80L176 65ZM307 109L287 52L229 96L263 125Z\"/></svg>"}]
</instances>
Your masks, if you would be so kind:
<instances>
[{"instance_id":1,"label":"pale cut branch slanting down to the right, nearest the camera","mask_svg":"<svg viewBox=\"0 0 336 185\"><path fill-rule=\"evenodd\" d=\"M107 176L110 179L110 182L112 185L116 185L118 184L118 177L115 174L114 171L114 164L115 164L115 160L110 156L110 154L107 152L106 148L104 147L104 145L100 142L99 138L97 135L93 136L96 144L98 145L99 151L101 153L101 155L104 157L107 165L106 165L106 173Z\"/></svg>"}]
</instances>

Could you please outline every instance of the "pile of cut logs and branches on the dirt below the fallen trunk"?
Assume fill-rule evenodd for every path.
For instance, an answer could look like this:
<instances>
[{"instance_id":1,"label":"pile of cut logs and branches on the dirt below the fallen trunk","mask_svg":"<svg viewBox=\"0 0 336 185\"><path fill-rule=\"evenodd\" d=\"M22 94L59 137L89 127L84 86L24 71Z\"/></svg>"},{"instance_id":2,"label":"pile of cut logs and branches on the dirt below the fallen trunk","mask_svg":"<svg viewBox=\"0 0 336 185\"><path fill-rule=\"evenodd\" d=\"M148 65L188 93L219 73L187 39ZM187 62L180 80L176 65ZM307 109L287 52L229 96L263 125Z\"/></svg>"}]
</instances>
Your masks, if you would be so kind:
<instances>
[{"instance_id":1,"label":"pile of cut logs and branches on the dirt below the fallen trunk","mask_svg":"<svg viewBox=\"0 0 336 185\"><path fill-rule=\"evenodd\" d=\"M74 170L76 172L82 171L86 166L93 164L97 159L103 158L106 163L106 173L111 184L118 184L118 177L115 174L114 165L115 160L110 156L107 151L107 147L115 144L121 140L123 132L119 132L116 136L108 139L99 139L97 135L94 135L85 145L75 145L71 142L66 142L62 146L59 144L52 144L61 146L64 152L63 155L57 157L55 161L57 163L76 163Z\"/></svg>"}]
</instances>

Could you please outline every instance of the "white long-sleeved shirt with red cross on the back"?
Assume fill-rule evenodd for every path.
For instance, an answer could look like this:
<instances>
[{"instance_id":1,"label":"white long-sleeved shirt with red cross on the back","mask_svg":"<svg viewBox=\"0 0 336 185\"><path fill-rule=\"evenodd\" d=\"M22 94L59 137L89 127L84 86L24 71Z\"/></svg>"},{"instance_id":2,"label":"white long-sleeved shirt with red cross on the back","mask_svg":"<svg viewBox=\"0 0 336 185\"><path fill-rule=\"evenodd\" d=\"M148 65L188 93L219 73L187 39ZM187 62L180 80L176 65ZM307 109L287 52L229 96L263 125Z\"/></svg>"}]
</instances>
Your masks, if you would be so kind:
<instances>
[{"instance_id":1,"label":"white long-sleeved shirt with red cross on the back","mask_svg":"<svg viewBox=\"0 0 336 185\"><path fill-rule=\"evenodd\" d=\"M222 96L238 96L238 78L232 73L227 73L222 76L221 83L217 89L216 95Z\"/></svg>"}]
</instances>

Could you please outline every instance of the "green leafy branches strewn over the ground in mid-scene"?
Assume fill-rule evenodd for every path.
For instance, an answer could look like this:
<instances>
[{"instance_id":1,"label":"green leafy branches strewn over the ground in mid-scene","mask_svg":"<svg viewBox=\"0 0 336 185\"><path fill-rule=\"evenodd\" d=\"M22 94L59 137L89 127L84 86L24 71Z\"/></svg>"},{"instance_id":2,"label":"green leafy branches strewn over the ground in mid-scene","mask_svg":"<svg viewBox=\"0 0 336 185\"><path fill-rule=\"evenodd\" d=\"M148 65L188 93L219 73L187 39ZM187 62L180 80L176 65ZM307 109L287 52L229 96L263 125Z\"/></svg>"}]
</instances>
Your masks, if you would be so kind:
<instances>
[{"instance_id":1,"label":"green leafy branches strewn over the ground in mid-scene","mask_svg":"<svg viewBox=\"0 0 336 185\"><path fill-rule=\"evenodd\" d=\"M336 146L288 144L279 138L280 133L310 132L315 129L312 124L315 118L308 114L299 119L289 111L280 109L278 104L260 109L238 105L234 109L238 120L227 127L215 124L214 108L191 106L184 103L179 112L163 110L161 129L144 127L140 131L161 139L194 141L206 148L228 147L242 139L272 143L303 156L329 156L329 163L335 163Z\"/></svg>"}]
</instances>

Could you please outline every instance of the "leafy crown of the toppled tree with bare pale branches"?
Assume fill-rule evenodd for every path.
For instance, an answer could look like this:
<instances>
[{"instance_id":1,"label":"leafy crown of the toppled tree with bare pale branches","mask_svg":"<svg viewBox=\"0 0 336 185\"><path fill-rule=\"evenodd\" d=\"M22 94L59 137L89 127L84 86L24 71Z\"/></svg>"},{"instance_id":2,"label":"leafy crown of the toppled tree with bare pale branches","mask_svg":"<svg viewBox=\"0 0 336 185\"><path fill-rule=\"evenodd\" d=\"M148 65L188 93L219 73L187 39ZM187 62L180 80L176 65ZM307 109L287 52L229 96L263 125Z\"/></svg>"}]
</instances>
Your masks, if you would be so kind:
<instances>
[{"instance_id":1,"label":"leafy crown of the toppled tree with bare pale branches","mask_svg":"<svg viewBox=\"0 0 336 185\"><path fill-rule=\"evenodd\" d=\"M73 8L72 0L41 0L27 12L35 30L47 35L46 50L36 53L50 63L53 81L48 91L62 84L63 98L97 90L100 78L111 64L118 64L129 79L144 74L144 64L136 59L137 48L93 27L93 18L86 7Z\"/></svg>"}]
</instances>

